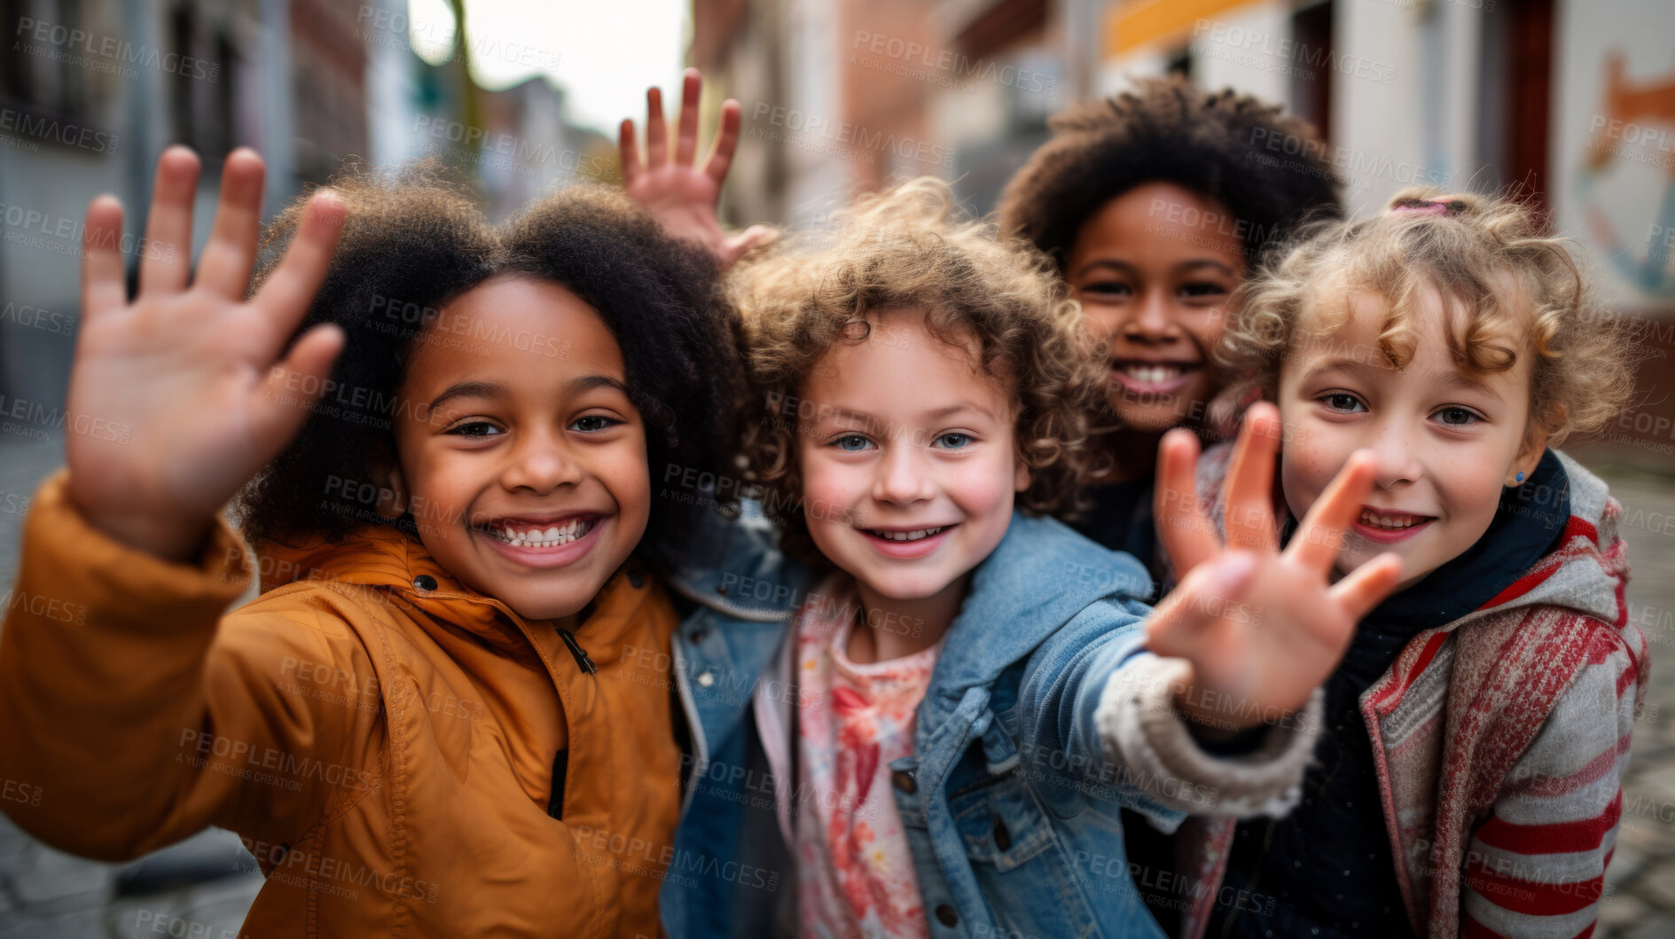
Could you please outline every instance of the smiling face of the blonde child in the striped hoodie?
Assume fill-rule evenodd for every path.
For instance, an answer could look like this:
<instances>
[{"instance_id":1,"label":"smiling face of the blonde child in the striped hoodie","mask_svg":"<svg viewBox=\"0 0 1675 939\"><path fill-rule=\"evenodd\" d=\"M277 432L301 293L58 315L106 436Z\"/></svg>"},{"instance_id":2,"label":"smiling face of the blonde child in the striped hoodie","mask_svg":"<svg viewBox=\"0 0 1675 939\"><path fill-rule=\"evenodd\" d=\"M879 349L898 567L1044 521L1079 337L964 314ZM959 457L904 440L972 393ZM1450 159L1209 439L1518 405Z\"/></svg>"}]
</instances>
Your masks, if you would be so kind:
<instances>
[{"instance_id":1,"label":"smiling face of the blonde child in the striped hoodie","mask_svg":"<svg viewBox=\"0 0 1675 939\"><path fill-rule=\"evenodd\" d=\"M1529 425L1531 351L1523 338L1497 340L1518 351L1513 368L1477 375L1449 351L1444 298L1415 291L1419 336L1405 368L1379 350L1389 305L1375 293L1348 293L1348 318L1332 335L1301 338L1280 370L1285 500L1301 517L1362 447L1379 472L1338 572L1374 556L1402 556L1402 588L1459 557L1489 529L1504 485L1541 460L1546 435Z\"/></svg>"}]
</instances>

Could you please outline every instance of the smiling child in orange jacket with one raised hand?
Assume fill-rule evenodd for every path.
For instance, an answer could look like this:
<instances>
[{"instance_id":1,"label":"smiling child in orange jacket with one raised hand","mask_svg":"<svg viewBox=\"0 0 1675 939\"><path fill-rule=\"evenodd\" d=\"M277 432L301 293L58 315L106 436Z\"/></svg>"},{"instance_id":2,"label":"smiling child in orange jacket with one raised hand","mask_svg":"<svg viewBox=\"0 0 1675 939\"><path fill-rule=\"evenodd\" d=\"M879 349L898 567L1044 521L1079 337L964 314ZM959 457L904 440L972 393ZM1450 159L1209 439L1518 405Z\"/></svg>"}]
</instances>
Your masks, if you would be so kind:
<instances>
[{"instance_id":1,"label":"smiling child in orange jacket with one raised hand","mask_svg":"<svg viewBox=\"0 0 1675 939\"><path fill-rule=\"evenodd\" d=\"M121 208L87 211L67 469L0 631L0 777L39 795L7 813L111 860L231 829L251 936L657 934L675 611L633 551L653 472L732 454L714 266L620 194L496 229L419 169L290 208L246 296L261 161L226 159L193 275L198 169L162 154L132 300ZM261 594L226 613L234 495Z\"/></svg>"}]
</instances>

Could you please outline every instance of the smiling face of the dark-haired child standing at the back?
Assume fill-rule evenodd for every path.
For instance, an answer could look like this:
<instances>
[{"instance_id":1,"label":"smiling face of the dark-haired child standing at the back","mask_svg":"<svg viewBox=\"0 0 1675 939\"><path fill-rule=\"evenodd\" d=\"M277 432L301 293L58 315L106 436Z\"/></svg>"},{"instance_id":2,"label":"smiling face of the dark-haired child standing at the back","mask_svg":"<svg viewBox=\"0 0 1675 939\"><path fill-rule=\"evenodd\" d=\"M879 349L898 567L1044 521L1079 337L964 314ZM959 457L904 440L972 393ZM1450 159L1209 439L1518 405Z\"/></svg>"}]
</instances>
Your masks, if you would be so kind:
<instances>
[{"instance_id":1,"label":"smiling face of the dark-haired child standing at the back","mask_svg":"<svg viewBox=\"0 0 1675 939\"><path fill-rule=\"evenodd\" d=\"M1065 276L1111 346L1111 405L1127 427L1201 420L1221 390L1209 350L1245 276L1228 211L1172 182L1136 186L1077 231Z\"/></svg>"}]
</instances>

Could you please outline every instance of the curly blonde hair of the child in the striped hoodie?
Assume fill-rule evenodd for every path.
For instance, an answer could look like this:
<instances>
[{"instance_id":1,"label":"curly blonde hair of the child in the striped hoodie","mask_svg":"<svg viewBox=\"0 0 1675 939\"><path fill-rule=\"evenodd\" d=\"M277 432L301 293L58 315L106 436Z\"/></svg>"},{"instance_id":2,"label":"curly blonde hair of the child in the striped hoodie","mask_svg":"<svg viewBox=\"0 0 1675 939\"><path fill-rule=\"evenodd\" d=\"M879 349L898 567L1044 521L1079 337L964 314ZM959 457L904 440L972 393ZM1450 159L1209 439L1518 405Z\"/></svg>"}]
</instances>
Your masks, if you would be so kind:
<instances>
[{"instance_id":1,"label":"curly blonde hair of the child in the striped hoodie","mask_svg":"<svg viewBox=\"0 0 1675 939\"><path fill-rule=\"evenodd\" d=\"M1216 357L1271 395L1298 331L1342 328L1352 288L1389 303L1379 351L1394 368L1419 345L1412 301L1427 288L1464 310L1444 338L1467 372L1506 372L1529 351L1531 430L1546 432L1549 445L1603 428L1633 395L1631 333L1593 301L1568 239L1544 236L1539 216L1514 199L1422 187L1397 192L1370 218L1310 226L1240 286ZM1506 336L1519 336L1511 345L1521 348ZM1248 392L1250 383L1228 395Z\"/></svg>"}]
</instances>

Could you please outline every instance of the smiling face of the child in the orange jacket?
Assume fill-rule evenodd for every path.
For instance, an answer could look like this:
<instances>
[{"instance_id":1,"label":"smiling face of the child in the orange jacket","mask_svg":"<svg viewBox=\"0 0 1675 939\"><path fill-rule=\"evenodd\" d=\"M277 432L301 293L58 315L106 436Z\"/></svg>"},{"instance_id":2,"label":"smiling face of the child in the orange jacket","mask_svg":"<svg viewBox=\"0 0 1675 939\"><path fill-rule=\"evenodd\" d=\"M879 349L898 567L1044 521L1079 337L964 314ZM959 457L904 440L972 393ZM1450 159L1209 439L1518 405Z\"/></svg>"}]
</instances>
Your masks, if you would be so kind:
<instances>
[{"instance_id":1,"label":"smiling face of the child in the orange jacket","mask_svg":"<svg viewBox=\"0 0 1675 939\"><path fill-rule=\"evenodd\" d=\"M556 619L640 542L645 427L615 336L566 288L497 276L462 293L414 341L397 400L390 487L466 586Z\"/></svg>"}]
</instances>

